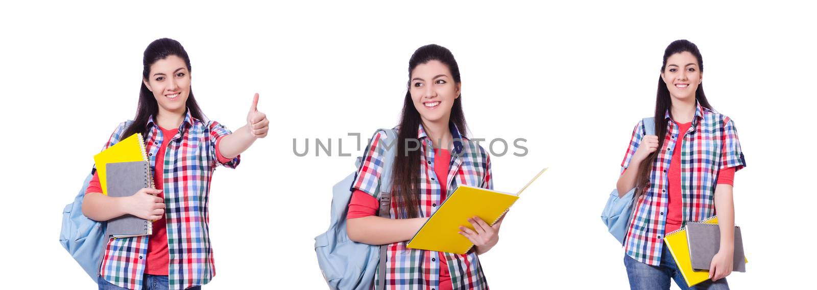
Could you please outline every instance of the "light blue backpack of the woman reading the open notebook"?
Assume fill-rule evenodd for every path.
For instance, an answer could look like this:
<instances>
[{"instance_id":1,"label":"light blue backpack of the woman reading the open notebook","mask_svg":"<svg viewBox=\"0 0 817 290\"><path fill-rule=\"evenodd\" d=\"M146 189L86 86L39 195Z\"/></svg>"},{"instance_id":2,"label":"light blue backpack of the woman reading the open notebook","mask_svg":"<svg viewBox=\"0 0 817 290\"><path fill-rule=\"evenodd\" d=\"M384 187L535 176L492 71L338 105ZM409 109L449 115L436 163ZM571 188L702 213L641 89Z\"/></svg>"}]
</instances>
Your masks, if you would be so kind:
<instances>
[{"instance_id":1,"label":"light blue backpack of the woman reading the open notebook","mask_svg":"<svg viewBox=\"0 0 817 290\"><path fill-rule=\"evenodd\" d=\"M391 165L395 160L397 133L391 129L381 130L386 132L386 139L383 143L391 144L391 146L386 145L386 154L383 156L384 164L380 176L380 196L378 196L380 209L377 215L390 218ZM364 157L357 158L358 170ZM352 182L355 182L358 170L332 187L332 215L329 229L315 237L318 265L324 274L326 283L333 290L372 289L375 269L378 267L380 277L386 277L386 245L357 243L346 235L346 211L349 209L349 200L352 196ZM377 289L382 290L385 286L386 279L381 278Z\"/></svg>"}]
</instances>

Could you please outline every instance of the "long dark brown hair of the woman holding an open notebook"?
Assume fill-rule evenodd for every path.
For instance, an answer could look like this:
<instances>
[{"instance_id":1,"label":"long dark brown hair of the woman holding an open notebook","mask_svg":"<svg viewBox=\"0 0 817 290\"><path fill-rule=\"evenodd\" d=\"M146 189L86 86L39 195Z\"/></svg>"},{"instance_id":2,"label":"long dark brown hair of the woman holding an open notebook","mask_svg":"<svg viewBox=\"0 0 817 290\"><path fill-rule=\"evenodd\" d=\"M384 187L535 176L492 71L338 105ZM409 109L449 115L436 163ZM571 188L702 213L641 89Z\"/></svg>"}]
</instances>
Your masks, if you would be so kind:
<instances>
[{"instance_id":1,"label":"long dark brown hair of the woman holding an open notebook","mask_svg":"<svg viewBox=\"0 0 817 290\"><path fill-rule=\"evenodd\" d=\"M447 48L430 44L422 46L414 51L411 59L408 59L408 84L406 97L403 103L403 114L400 116L400 129L398 130L397 138L397 154L395 154L395 163L392 169L392 178L394 181L394 194L392 195L397 205L398 218L417 218L417 184L420 182L420 150L408 150L409 146L407 140L417 140L417 128L421 124L420 112L414 108L414 103L411 99L411 78L412 71L417 68L417 65L426 64L431 60L437 60L445 64L451 71L453 80L460 84L460 73L457 60L454 55ZM465 115L462 114L462 94L457 99L454 99L451 107L450 121L457 125L462 138L466 137L467 126L465 122ZM417 140L418 141L418 140ZM416 146L416 145L414 145ZM413 148L411 148L413 149Z\"/></svg>"}]
</instances>

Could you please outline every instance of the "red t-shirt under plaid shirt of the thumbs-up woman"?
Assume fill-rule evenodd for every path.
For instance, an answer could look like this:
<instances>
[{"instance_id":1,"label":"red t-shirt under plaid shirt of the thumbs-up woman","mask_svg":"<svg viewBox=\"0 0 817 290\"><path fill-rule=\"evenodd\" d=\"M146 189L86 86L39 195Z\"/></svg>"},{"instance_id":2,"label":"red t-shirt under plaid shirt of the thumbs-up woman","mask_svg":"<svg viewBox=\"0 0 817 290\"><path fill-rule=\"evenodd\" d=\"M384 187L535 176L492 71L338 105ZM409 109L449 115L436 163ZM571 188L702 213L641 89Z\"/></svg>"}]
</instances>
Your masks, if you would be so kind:
<instances>
[{"instance_id":1,"label":"red t-shirt under plaid shirt of the thumbs-up woman","mask_svg":"<svg viewBox=\"0 0 817 290\"><path fill-rule=\"evenodd\" d=\"M163 189L164 152L167 151L167 145L170 144L172 138L179 133L179 130L167 130L162 127L159 127L159 129L162 130L163 139L162 145L158 147L158 152L156 152L154 185L156 189ZM224 156L221 156L221 152L218 150L219 142L221 142L221 138L216 141L216 156L222 163L230 162L230 159L226 159ZM88 184L88 188L85 190L86 194L88 192L102 192L99 174L94 174L94 177ZM158 197L164 198L164 191L160 192ZM148 254L147 259L145 259L145 274L167 275L167 266L169 264L170 255L167 253L167 220L163 215L162 218L159 218L157 221L153 222L153 235L150 235L150 239L148 239Z\"/></svg>"}]
</instances>

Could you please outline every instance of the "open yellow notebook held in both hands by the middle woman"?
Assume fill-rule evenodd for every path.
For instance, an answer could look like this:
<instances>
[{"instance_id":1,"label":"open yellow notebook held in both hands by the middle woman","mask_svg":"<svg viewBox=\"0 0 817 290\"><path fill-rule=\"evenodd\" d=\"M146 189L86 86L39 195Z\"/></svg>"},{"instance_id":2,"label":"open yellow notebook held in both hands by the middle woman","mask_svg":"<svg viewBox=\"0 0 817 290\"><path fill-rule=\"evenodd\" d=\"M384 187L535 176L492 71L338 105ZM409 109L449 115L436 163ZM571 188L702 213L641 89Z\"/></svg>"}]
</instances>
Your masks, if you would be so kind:
<instances>
[{"instance_id":1,"label":"open yellow notebook held in both hands by the middle woman","mask_svg":"<svg viewBox=\"0 0 817 290\"><path fill-rule=\"evenodd\" d=\"M480 187L460 186L451 196L440 204L440 209L431 215L425 225L408 241L406 247L437 252L467 253L474 244L463 235L458 234L459 226L474 229L468 218L480 217L493 226L511 205L519 199L519 194L528 188L539 175L528 182L518 193L511 194L492 191Z\"/></svg>"}]
</instances>

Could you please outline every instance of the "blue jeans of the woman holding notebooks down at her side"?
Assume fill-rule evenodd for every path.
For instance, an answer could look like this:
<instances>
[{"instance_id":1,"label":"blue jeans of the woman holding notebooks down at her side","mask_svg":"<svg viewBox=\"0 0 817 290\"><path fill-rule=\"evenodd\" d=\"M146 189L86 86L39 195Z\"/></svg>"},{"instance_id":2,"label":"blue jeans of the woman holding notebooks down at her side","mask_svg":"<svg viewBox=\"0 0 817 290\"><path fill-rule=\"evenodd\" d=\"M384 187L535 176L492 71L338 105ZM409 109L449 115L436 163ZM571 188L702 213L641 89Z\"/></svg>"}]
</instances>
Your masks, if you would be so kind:
<instances>
[{"instance_id":1,"label":"blue jeans of the woman holding notebooks down at her side","mask_svg":"<svg viewBox=\"0 0 817 290\"><path fill-rule=\"evenodd\" d=\"M627 267L627 278L630 279L630 289L632 290L669 290L669 279L675 280L678 288L682 290L729 290L729 284L726 279L720 279L715 282L712 280L703 281L693 287L687 287L684 276L681 275L681 270L675 265L675 260L672 259L672 254L669 253L667 245L664 244L661 253L661 265L650 266L640 261L636 261L627 254L624 254L624 266Z\"/></svg>"}]
</instances>

